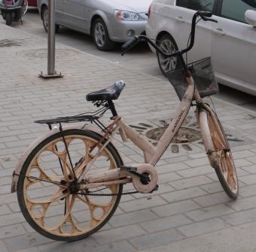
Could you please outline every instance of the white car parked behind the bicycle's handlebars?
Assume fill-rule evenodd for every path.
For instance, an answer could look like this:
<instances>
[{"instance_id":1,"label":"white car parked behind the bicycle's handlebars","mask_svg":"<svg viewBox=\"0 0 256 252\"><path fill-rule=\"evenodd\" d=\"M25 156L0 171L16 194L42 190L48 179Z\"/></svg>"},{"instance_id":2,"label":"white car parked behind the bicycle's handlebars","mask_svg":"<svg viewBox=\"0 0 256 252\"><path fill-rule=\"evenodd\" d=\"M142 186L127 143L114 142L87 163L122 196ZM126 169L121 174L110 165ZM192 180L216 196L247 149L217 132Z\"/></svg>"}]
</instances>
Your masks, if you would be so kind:
<instances>
[{"instance_id":1,"label":"white car parked behind the bicycle's handlebars","mask_svg":"<svg viewBox=\"0 0 256 252\"><path fill-rule=\"evenodd\" d=\"M211 11L218 23L197 24L189 62L211 55L219 83L256 95L256 0L154 0L147 36L166 52L186 48L196 10ZM157 58L163 74L178 68L176 58Z\"/></svg>"}]
</instances>

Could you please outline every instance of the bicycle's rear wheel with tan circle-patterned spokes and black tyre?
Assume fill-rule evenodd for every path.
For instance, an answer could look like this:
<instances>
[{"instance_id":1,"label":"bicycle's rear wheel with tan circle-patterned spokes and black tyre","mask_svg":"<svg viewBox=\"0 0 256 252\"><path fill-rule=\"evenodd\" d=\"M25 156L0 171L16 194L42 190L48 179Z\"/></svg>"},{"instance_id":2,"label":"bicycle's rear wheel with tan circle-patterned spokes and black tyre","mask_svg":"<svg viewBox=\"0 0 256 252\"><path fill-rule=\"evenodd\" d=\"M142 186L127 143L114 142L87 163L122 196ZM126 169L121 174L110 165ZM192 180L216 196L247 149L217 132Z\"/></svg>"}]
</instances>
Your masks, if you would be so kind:
<instances>
[{"instance_id":1,"label":"bicycle's rear wheel with tan circle-patterned spokes and black tyre","mask_svg":"<svg viewBox=\"0 0 256 252\"><path fill-rule=\"evenodd\" d=\"M75 190L69 156L78 178L104 141L97 146L102 136L87 130L65 130L64 135L70 155L61 133L44 139L23 164L17 196L24 217L38 233L50 239L73 242L90 236L108 222L120 202L123 185L99 185L90 190L97 194L95 196L86 194L89 193L86 190ZM120 155L108 143L89 173L122 164ZM72 183L72 187L66 187L67 182Z\"/></svg>"}]
</instances>

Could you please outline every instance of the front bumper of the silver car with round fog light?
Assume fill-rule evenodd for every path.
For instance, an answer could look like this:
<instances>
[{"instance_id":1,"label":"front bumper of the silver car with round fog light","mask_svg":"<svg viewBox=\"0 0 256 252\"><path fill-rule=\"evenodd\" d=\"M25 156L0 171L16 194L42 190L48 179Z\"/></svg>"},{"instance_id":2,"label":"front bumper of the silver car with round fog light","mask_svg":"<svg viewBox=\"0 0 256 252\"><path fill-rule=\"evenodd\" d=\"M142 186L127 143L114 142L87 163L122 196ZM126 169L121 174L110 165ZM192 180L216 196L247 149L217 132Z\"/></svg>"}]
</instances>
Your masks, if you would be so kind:
<instances>
[{"instance_id":1,"label":"front bumper of the silver car with round fog light","mask_svg":"<svg viewBox=\"0 0 256 252\"><path fill-rule=\"evenodd\" d=\"M145 24L144 21L118 21L115 18L109 20L108 23L108 34L111 40L116 42L126 42L131 39L131 37L145 34ZM133 35L128 35L129 31L133 31Z\"/></svg>"}]
</instances>

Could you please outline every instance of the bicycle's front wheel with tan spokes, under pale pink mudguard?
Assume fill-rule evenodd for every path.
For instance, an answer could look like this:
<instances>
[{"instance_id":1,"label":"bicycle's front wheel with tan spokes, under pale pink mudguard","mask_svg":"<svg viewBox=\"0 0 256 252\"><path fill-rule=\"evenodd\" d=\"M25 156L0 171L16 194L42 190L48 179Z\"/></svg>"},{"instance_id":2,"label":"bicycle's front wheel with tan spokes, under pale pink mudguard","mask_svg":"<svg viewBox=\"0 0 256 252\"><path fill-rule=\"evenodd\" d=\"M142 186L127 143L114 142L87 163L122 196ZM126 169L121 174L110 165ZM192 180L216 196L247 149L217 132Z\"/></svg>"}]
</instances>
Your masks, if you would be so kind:
<instances>
[{"instance_id":1,"label":"bicycle's front wheel with tan spokes, under pale pink mudguard","mask_svg":"<svg viewBox=\"0 0 256 252\"><path fill-rule=\"evenodd\" d=\"M231 199L239 193L236 167L229 142L218 116L208 107L200 112L202 137L211 165L215 168L221 186Z\"/></svg>"}]
</instances>

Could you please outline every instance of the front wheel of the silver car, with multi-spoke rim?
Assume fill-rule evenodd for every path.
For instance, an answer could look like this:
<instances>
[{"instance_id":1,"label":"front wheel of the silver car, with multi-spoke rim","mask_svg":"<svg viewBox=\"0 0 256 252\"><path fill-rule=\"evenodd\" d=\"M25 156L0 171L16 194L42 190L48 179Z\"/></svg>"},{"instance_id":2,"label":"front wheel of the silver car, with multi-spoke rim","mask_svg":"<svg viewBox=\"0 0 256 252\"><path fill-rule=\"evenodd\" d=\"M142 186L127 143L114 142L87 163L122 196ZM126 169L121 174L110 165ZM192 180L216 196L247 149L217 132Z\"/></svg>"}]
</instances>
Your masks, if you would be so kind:
<instances>
[{"instance_id":1,"label":"front wheel of the silver car, with multi-spoke rim","mask_svg":"<svg viewBox=\"0 0 256 252\"><path fill-rule=\"evenodd\" d=\"M93 41L101 51L109 51L114 48L115 43L109 38L108 29L101 18L93 22Z\"/></svg>"}]
</instances>

